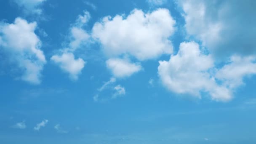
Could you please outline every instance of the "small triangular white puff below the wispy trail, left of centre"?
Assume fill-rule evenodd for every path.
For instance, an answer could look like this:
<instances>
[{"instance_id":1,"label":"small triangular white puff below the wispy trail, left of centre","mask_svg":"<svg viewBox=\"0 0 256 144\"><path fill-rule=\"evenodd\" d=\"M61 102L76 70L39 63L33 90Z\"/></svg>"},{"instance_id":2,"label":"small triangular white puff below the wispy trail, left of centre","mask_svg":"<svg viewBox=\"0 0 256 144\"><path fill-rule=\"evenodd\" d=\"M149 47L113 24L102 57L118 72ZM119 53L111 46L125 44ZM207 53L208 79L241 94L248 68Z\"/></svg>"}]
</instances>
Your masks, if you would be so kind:
<instances>
[{"instance_id":1,"label":"small triangular white puff below the wispy trail, left of centre","mask_svg":"<svg viewBox=\"0 0 256 144\"><path fill-rule=\"evenodd\" d=\"M64 72L69 73L69 77L72 80L78 79L78 75L85 65L85 61L81 58L75 59L73 53L63 53L61 56L54 55L51 57L51 60L59 64L59 67Z\"/></svg>"}]
</instances>

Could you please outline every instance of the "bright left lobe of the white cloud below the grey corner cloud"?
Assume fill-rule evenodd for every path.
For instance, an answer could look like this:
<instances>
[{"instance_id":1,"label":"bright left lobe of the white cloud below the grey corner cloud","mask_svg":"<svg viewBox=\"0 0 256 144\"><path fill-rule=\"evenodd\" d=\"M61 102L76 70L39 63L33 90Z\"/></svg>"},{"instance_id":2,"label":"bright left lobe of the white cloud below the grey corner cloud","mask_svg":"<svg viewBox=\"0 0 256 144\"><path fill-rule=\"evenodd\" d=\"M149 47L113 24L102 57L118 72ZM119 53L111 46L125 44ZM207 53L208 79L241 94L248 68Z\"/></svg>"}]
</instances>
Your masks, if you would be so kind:
<instances>
[{"instance_id":1,"label":"bright left lobe of the white cloud below the grey corner cloud","mask_svg":"<svg viewBox=\"0 0 256 144\"><path fill-rule=\"evenodd\" d=\"M169 90L201 97L206 92L211 99L228 101L232 93L228 88L218 85L211 69L214 62L211 55L202 53L195 42L181 43L179 52L169 61L159 61L158 74Z\"/></svg>"}]
</instances>

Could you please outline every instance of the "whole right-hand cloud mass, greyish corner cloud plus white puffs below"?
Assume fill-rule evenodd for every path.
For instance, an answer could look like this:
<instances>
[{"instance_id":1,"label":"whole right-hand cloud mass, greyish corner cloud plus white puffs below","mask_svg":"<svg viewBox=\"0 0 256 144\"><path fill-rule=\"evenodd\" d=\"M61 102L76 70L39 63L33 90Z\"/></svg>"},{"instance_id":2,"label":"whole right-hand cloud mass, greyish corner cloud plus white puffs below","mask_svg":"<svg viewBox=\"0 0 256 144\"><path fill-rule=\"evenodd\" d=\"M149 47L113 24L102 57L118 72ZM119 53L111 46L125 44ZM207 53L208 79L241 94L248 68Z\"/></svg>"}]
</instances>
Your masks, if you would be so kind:
<instances>
[{"instance_id":1,"label":"whole right-hand cloud mass, greyish corner cloud plus white puffs below","mask_svg":"<svg viewBox=\"0 0 256 144\"><path fill-rule=\"evenodd\" d=\"M200 40L212 54L205 54L195 42L181 43L179 52L169 61L159 61L158 74L163 85L176 93L200 97L206 92L214 100L232 99L235 89L244 84L243 78L256 74L253 40L256 11L252 6L256 3L239 0L179 0L178 3L184 11L188 36Z\"/></svg>"}]
</instances>

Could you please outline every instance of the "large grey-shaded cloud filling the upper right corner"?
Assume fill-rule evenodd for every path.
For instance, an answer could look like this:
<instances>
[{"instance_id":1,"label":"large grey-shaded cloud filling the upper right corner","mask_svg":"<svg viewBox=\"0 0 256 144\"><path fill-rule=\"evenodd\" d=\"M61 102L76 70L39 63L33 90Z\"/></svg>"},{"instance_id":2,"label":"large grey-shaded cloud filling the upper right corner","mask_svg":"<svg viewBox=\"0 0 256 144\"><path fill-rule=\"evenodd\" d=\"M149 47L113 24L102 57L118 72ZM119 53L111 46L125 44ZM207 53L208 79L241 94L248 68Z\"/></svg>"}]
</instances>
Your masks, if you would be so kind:
<instances>
[{"instance_id":1,"label":"large grey-shaded cloud filling the upper right corner","mask_svg":"<svg viewBox=\"0 0 256 144\"><path fill-rule=\"evenodd\" d=\"M216 56L256 53L252 0L179 0L185 28Z\"/></svg>"}]
</instances>

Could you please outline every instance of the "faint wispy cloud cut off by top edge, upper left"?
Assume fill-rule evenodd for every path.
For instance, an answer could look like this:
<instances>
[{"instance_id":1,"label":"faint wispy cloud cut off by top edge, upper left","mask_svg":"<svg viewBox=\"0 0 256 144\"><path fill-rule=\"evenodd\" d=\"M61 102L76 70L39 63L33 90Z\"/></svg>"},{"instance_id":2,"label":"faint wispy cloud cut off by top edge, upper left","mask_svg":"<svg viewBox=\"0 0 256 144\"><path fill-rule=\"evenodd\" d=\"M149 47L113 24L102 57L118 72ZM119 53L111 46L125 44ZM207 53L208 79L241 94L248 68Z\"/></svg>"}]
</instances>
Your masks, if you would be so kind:
<instances>
[{"instance_id":1,"label":"faint wispy cloud cut off by top edge, upper left","mask_svg":"<svg viewBox=\"0 0 256 144\"><path fill-rule=\"evenodd\" d=\"M46 0L13 0L16 2L21 8L24 9L26 13L36 13L41 14L42 9L40 5L43 4Z\"/></svg>"}]
</instances>

